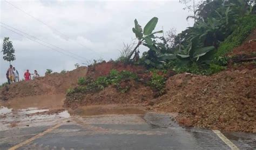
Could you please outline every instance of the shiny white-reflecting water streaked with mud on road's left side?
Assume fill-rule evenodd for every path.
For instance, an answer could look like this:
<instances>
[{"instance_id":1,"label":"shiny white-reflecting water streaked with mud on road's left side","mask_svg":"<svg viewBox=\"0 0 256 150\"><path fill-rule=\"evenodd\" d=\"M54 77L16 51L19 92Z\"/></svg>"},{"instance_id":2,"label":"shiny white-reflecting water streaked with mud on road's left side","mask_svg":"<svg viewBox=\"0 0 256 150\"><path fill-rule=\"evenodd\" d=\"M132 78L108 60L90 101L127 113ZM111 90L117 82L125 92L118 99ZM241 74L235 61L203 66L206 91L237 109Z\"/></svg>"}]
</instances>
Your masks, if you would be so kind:
<instances>
[{"instance_id":1,"label":"shiny white-reflecting water streaked with mud on road's left side","mask_svg":"<svg viewBox=\"0 0 256 150\"><path fill-rule=\"evenodd\" d=\"M15 110L0 106L0 131L13 127L49 126L69 117L69 112L63 109L48 110L30 107Z\"/></svg>"}]
</instances>

